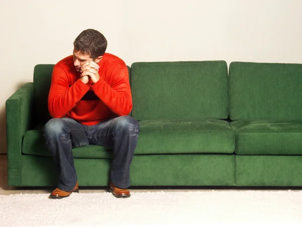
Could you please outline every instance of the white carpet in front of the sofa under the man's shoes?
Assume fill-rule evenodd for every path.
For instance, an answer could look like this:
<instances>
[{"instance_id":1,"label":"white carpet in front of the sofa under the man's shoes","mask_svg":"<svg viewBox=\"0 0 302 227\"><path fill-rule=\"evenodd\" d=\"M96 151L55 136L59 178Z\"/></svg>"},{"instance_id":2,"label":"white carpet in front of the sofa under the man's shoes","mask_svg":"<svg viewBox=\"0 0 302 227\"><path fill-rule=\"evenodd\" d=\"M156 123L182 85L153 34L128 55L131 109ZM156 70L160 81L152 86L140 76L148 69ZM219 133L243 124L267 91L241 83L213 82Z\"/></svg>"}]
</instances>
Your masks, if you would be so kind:
<instances>
[{"instance_id":1,"label":"white carpet in front of the sofa under the man's shoes","mask_svg":"<svg viewBox=\"0 0 302 227\"><path fill-rule=\"evenodd\" d=\"M64 199L48 195L0 195L0 226L302 223L302 191L132 192L126 199L81 190Z\"/></svg>"}]
</instances>

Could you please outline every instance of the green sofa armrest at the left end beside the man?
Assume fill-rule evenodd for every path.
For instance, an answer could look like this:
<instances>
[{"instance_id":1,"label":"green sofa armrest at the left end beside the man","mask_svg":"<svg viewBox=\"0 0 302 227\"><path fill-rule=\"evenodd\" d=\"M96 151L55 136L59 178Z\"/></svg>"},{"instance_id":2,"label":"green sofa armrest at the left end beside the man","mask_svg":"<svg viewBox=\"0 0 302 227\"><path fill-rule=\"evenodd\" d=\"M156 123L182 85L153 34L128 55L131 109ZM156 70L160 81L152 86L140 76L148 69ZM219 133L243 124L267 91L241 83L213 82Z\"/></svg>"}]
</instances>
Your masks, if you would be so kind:
<instances>
[{"instance_id":1,"label":"green sofa armrest at the left end beside the man","mask_svg":"<svg viewBox=\"0 0 302 227\"><path fill-rule=\"evenodd\" d=\"M20 186L22 139L32 128L34 85L26 83L6 101L8 185Z\"/></svg>"}]
</instances>

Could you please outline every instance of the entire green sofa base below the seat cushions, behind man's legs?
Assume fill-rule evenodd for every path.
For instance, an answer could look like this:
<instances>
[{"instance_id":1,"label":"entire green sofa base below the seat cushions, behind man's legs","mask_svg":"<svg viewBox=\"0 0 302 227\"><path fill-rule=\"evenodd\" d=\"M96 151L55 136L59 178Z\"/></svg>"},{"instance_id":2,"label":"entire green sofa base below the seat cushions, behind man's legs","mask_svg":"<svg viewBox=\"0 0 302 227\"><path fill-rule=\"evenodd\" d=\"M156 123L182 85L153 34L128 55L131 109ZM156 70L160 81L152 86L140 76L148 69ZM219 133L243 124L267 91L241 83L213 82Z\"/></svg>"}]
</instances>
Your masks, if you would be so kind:
<instances>
[{"instance_id":1,"label":"entire green sofa base below the seat cushions, behind man's legs","mask_svg":"<svg viewBox=\"0 0 302 227\"><path fill-rule=\"evenodd\" d=\"M111 162L74 159L80 186L108 186ZM131 186L300 187L301 173L302 156L140 155L130 179ZM9 175L9 186L56 186L57 174L51 157L22 155L20 181Z\"/></svg>"}]
</instances>

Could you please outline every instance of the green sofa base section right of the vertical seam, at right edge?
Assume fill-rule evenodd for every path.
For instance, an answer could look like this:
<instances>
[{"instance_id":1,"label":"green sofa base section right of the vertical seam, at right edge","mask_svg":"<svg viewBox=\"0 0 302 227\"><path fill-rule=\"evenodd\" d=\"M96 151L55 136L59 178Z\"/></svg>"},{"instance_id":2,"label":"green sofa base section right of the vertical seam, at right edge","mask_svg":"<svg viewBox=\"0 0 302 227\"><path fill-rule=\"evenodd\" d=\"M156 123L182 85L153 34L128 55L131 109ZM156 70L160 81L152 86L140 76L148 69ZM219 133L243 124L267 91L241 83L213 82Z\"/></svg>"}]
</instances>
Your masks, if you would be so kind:
<instances>
[{"instance_id":1,"label":"green sofa base section right of the vertical seam, at right edge","mask_svg":"<svg viewBox=\"0 0 302 227\"><path fill-rule=\"evenodd\" d=\"M236 156L236 186L302 186L302 156Z\"/></svg>"}]
</instances>

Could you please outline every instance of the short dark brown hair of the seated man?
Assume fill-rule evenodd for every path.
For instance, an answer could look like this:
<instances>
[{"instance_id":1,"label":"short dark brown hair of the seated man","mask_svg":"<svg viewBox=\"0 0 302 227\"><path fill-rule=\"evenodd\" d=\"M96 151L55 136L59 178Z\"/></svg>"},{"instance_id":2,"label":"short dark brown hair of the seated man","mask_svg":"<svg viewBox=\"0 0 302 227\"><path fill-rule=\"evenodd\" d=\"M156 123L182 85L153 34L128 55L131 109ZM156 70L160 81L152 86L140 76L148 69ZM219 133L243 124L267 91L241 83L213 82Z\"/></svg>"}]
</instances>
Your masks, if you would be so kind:
<instances>
[{"instance_id":1,"label":"short dark brown hair of the seated man","mask_svg":"<svg viewBox=\"0 0 302 227\"><path fill-rule=\"evenodd\" d=\"M107 49L107 40L99 31L87 29L74 40L73 46L75 50L89 54L91 58L96 59L104 55Z\"/></svg>"}]
</instances>

